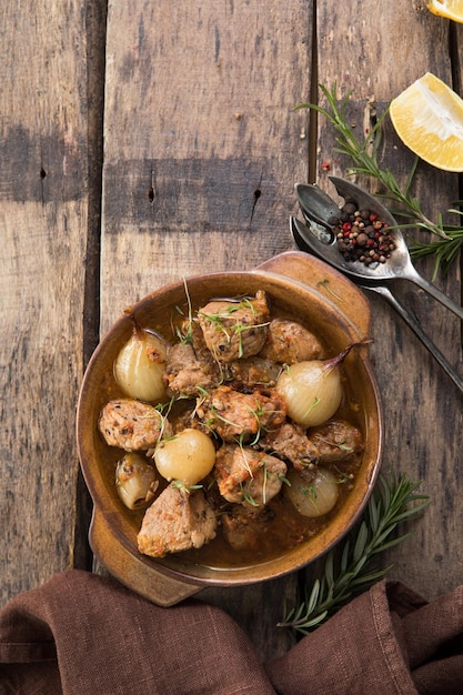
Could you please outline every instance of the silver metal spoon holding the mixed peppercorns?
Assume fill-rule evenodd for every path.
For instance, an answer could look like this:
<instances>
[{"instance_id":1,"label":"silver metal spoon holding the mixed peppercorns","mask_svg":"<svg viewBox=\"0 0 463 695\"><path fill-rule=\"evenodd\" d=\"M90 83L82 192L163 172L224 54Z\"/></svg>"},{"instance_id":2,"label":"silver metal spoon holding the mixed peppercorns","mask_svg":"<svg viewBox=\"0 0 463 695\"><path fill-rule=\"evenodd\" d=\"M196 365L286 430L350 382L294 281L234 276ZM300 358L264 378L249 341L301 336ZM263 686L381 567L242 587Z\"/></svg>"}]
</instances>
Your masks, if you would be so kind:
<instances>
[{"instance_id":1,"label":"silver metal spoon holding the mixed peppercorns","mask_svg":"<svg viewBox=\"0 0 463 695\"><path fill-rule=\"evenodd\" d=\"M375 212L390 226L397 224L389 210L374 195L345 179L329 178L344 200L355 200L360 209L365 208ZM345 261L338 249L336 238L333 233L333 218L340 214L336 203L316 184L296 183L295 191L302 213L310 224L310 229L301 224L299 232L316 255L322 256L328 263L351 278L366 280L369 283L384 284L391 280L410 280L460 319L463 319L463 308L437 290L415 270L405 240L399 229L390 230L396 248L385 263L365 265L360 261Z\"/></svg>"}]
</instances>

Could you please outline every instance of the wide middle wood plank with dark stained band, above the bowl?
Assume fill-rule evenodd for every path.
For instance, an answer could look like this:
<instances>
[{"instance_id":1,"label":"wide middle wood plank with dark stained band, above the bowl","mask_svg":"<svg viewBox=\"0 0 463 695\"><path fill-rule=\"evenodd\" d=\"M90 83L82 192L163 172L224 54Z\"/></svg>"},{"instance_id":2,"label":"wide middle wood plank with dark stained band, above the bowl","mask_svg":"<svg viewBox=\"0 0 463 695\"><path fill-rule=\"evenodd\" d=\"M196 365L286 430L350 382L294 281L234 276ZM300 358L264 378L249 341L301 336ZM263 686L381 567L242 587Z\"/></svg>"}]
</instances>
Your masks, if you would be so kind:
<instances>
[{"instance_id":1,"label":"wide middle wood plank with dark stained band, above the bowl","mask_svg":"<svg viewBox=\"0 0 463 695\"><path fill-rule=\"evenodd\" d=\"M308 114L293 108L309 98L311 18L305 0L110 6L102 331L167 282L292 246L293 184L308 175ZM208 600L275 655L288 635L269 632L294 581Z\"/></svg>"}]
</instances>

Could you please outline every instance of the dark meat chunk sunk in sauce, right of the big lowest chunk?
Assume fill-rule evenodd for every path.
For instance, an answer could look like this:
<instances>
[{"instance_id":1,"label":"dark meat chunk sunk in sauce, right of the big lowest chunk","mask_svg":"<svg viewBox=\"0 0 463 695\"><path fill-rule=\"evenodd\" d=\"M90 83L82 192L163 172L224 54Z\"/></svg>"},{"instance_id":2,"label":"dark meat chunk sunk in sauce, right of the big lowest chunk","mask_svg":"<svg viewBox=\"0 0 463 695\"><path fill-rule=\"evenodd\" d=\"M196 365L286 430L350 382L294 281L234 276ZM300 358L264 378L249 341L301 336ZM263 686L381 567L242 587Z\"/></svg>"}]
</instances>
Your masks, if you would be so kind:
<instances>
[{"instance_id":1,"label":"dark meat chunk sunk in sauce, right of the big lowest chunk","mask_svg":"<svg viewBox=\"0 0 463 695\"><path fill-rule=\"evenodd\" d=\"M234 504L221 516L223 537L235 551L259 550L262 534L274 516L269 506Z\"/></svg>"}]
</instances>

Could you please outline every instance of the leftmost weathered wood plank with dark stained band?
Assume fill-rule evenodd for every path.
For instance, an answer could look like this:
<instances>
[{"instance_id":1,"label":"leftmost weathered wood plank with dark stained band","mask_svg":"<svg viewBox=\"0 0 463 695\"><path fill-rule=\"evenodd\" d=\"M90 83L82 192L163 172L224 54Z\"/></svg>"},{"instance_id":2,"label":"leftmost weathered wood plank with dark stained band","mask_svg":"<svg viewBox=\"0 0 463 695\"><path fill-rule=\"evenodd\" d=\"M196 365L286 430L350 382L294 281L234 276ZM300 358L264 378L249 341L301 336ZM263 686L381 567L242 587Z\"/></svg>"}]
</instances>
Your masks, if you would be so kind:
<instances>
[{"instance_id":1,"label":"leftmost weathered wood plank with dark stained band","mask_svg":"<svg viewBox=\"0 0 463 695\"><path fill-rule=\"evenodd\" d=\"M70 0L2 8L2 603L85 563L74 412L89 228L87 20Z\"/></svg>"}]
</instances>

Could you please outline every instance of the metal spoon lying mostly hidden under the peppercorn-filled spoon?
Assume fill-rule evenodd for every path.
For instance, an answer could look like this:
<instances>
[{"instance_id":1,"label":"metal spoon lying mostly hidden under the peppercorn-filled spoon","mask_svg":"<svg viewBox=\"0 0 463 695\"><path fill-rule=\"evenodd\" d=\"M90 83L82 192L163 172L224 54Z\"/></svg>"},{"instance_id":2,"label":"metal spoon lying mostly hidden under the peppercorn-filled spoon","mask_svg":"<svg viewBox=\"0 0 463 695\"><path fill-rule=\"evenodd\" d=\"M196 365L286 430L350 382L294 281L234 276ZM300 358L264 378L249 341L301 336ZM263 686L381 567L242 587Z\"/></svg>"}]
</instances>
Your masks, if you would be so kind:
<instances>
[{"instance_id":1,"label":"metal spoon lying mostly hidden under the peppercorn-filled spoon","mask_svg":"<svg viewBox=\"0 0 463 695\"><path fill-rule=\"evenodd\" d=\"M300 233L301 228L305 229L304 225L302 225L301 222L299 222L295 218L291 218L291 234L294 239L294 242L298 249L300 249L301 251L305 251L305 252L313 252L314 255L316 255L321 260L325 260L325 256L323 254L316 253L316 251L313 250L313 246L306 243L305 236L302 236L302 234ZM393 306L393 309L395 309L399 315L402 316L405 323L409 324L409 326L412 329L415 335L421 340L423 345L430 351L432 356L446 372L446 374L450 376L453 383L460 389L461 392L463 392L463 379L460 376L460 374L456 373L456 371L450 364L447 359L442 354L439 348L432 342L430 336L423 331L423 329L421 328L421 324L416 321L416 319L392 294L390 289L386 285L380 284L380 283L371 283L371 282L368 282L366 280L362 282L360 278L352 278L352 280L355 282L355 284L359 288L362 288L362 290L366 290L369 292L375 292L376 294L380 294L386 302L389 302L391 306Z\"/></svg>"}]
</instances>

